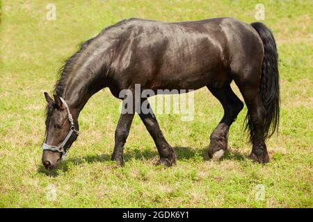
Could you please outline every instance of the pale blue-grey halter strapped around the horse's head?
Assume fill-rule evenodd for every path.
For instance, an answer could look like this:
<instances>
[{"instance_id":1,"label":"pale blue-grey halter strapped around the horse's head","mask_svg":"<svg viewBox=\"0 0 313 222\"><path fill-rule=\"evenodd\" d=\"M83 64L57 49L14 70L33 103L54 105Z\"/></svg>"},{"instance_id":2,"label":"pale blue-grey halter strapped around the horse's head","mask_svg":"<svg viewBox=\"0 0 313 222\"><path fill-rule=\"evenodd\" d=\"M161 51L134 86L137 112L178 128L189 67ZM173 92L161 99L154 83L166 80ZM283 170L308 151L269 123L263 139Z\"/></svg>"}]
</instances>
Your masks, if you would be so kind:
<instances>
[{"instance_id":1,"label":"pale blue-grey halter strapped around the horse's head","mask_svg":"<svg viewBox=\"0 0 313 222\"><path fill-rule=\"evenodd\" d=\"M72 114L70 112L70 108L68 108L67 103L65 102L65 100L62 97L60 97L60 99L61 99L62 103L65 105L65 108L67 110L68 120L70 121L70 132L67 133L65 139L63 140L63 142L62 142L62 144L60 146L51 146L51 145L48 145L48 144L44 143L42 145L42 148L43 148L44 151L57 151L59 153L63 153L62 158L63 158L63 160L65 160L67 152L65 151L64 146L67 143L67 141L70 139L72 134L75 133L78 136L79 135L79 131L77 131L75 129L74 120L73 120Z\"/></svg>"}]
</instances>

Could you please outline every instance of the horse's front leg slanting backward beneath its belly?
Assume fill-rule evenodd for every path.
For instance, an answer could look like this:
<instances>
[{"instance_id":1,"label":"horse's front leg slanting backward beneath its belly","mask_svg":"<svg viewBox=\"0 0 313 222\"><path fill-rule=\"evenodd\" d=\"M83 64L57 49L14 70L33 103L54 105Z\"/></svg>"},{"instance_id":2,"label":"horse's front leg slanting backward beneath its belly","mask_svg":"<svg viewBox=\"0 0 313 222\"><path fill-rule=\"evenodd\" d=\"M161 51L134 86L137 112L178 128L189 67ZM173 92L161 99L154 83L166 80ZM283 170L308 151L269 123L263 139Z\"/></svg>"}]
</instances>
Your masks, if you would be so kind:
<instances>
[{"instance_id":1,"label":"horse's front leg slanting backward beneath its belly","mask_svg":"<svg viewBox=\"0 0 313 222\"><path fill-rule=\"evenodd\" d=\"M152 108L150 107L149 101L147 99L143 100L142 103L145 102L145 110L141 110L139 113L139 117L145 124L148 132L152 136L155 145L157 146L160 160L157 164L164 164L166 167L170 167L176 164L176 155L174 149L168 144L166 139L164 138L159 123L155 118Z\"/></svg>"}]
</instances>

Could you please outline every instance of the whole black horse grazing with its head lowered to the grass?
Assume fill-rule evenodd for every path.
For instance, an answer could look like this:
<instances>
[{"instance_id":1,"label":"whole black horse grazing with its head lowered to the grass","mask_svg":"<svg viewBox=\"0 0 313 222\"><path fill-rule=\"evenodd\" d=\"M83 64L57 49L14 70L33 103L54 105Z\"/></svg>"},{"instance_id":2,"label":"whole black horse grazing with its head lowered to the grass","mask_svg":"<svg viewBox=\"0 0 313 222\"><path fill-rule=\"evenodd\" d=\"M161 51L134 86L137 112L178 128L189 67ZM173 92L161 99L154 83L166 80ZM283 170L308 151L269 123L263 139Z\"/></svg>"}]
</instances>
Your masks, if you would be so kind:
<instances>
[{"instance_id":1,"label":"whole black horse grazing with its head lowered to the grass","mask_svg":"<svg viewBox=\"0 0 313 222\"><path fill-rule=\"evenodd\" d=\"M122 89L134 92L135 84L156 93L157 89L206 86L224 108L209 144L209 155L218 160L227 149L228 130L243 109L230 87L232 80L248 107L249 157L266 163L265 140L278 128L280 90L276 44L264 24L228 17L176 23L145 19L118 22L84 42L65 62L54 99L45 93L48 104L42 163L47 169L58 167L77 138L79 113L93 94L109 87L119 98ZM134 104L144 102L148 103L146 98ZM112 160L121 166L136 105L131 109L134 112L120 114L115 130ZM158 163L175 164L175 151L163 137L154 114L140 112L139 116L157 146Z\"/></svg>"}]
</instances>

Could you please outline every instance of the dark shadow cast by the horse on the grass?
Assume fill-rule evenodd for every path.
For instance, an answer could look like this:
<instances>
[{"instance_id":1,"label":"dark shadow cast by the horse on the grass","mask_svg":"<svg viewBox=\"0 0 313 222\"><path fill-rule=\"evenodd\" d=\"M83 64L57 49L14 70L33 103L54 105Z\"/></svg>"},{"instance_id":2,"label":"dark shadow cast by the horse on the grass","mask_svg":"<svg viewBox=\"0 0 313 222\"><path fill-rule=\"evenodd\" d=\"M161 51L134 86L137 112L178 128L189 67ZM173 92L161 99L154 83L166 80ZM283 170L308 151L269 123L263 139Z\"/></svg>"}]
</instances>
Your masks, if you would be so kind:
<instances>
[{"instance_id":1,"label":"dark shadow cast by the horse on the grass","mask_svg":"<svg viewBox=\"0 0 313 222\"><path fill-rule=\"evenodd\" d=\"M174 147L177 160L196 160L202 158L204 161L210 160L207 147L200 148L195 150L194 148L185 147L185 146L175 146ZM151 149L146 148L142 149L131 149L126 151L123 155L125 162L129 160L151 160L154 158L158 158L159 154L157 152L157 148ZM220 161L223 160L236 160L242 161L245 160L246 156L242 155L238 151L229 151L227 150ZM111 161L111 155L102 154L102 155L86 155L84 157L72 157L69 158L66 162L62 162L58 169L55 170L47 170L42 165L38 166L38 173L45 173L47 176L56 177L59 175L59 172L68 171L68 166L70 164L74 164L75 166L84 164L84 163L93 163L93 162L109 162Z\"/></svg>"}]
</instances>

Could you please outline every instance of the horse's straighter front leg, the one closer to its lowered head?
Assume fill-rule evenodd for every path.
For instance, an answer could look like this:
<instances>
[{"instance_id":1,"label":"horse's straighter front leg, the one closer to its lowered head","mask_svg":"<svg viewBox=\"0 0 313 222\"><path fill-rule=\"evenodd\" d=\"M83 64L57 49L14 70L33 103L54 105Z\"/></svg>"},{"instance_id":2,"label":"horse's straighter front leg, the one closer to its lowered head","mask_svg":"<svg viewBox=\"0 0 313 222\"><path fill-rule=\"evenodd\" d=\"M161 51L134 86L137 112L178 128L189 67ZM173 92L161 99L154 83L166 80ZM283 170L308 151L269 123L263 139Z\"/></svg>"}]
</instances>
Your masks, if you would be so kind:
<instances>
[{"instance_id":1,"label":"horse's straighter front leg, the one closer to its lowered head","mask_svg":"<svg viewBox=\"0 0 313 222\"><path fill-rule=\"evenodd\" d=\"M123 151L124 144L129 134L129 129L131 127L131 122L134 119L134 113L120 114L120 119L118 120L118 126L115 130L115 146L111 157L111 160L115 160L118 164L123 167Z\"/></svg>"}]
</instances>

